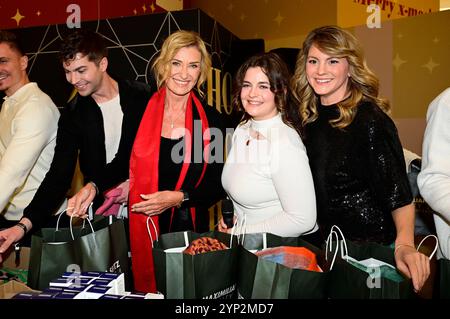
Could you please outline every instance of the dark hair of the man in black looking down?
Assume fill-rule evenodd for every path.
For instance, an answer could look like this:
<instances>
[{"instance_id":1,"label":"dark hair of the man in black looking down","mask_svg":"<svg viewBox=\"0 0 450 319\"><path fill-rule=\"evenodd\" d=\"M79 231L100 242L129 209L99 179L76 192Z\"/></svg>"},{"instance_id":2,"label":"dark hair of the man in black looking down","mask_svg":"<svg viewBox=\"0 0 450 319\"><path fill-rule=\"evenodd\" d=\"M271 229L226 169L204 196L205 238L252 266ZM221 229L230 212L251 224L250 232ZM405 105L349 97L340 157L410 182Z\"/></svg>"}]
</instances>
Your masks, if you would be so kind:
<instances>
[{"instance_id":1,"label":"dark hair of the man in black looking down","mask_svg":"<svg viewBox=\"0 0 450 319\"><path fill-rule=\"evenodd\" d=\"M61 62L70 61L78 53L87 56L88 60L95 64L108 57L104 38L89 29L76 29L65 36L60 46L59 59Z\"/></svg>"}]
</instances>

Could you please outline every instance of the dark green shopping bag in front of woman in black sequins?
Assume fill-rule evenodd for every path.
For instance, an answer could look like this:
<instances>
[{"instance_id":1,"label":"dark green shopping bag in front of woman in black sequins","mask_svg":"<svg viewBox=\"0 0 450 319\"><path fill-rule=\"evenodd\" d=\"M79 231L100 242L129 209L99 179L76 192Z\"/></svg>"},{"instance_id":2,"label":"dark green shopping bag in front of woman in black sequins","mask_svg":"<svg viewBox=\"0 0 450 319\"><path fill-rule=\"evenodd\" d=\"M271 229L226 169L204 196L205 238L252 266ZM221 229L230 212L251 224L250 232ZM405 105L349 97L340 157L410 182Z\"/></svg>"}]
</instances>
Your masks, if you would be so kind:
<instances>
[{"instance_id":1,"label":"dark green shopping bag in front of woman in black sequins","mask_svg":"<svg viewBox=\"0 0 450 319\"><path fill-rule=\"evenodd\" d=\"M341 243L341 241L339 241ZM348 255L358 261L374 258L395 265L394 250L377 243L356 244L346 241ZM336 242L332 242L332 252ZM329 255L333 255L330 253ZM329 297L336 299L406 299L413 297L410 279L401 276L387 266L370 269L368 273L340 258L341 252L330 271ZM330 257L331 258L331 257Z\"/></svg>"}]
</instances>

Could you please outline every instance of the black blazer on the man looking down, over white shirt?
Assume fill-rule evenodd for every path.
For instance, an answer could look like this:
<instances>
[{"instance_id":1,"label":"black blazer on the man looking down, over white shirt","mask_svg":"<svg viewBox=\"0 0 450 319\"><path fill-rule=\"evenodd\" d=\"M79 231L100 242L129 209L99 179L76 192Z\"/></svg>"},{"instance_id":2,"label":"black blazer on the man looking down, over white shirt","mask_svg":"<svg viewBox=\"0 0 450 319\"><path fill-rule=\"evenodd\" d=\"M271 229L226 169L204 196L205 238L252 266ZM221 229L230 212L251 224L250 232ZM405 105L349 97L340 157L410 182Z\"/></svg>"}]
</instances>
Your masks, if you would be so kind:
<instances>
[{"instance_id":1,"label":"black blazer on the man looking down, over white shirt","mask_svg":"<svg viewBox=\"0 0 450 319\"><path fill-rule=\"evenodd\" d=\"M114 176L106 174L101 110L91 96L76 95L61 112L55 155L50 169L33 200L24 210L23 215L31 220L33 229L41 228L64 200L71 186L78 156L84 181L98 181L101 191L104 190L104 185L128 178L131 148L151 91L142 82L118 80L118 84L123 121L119 150L108 164L111 168L108 172L113 171Z\"/></svg>"}]
</instances>

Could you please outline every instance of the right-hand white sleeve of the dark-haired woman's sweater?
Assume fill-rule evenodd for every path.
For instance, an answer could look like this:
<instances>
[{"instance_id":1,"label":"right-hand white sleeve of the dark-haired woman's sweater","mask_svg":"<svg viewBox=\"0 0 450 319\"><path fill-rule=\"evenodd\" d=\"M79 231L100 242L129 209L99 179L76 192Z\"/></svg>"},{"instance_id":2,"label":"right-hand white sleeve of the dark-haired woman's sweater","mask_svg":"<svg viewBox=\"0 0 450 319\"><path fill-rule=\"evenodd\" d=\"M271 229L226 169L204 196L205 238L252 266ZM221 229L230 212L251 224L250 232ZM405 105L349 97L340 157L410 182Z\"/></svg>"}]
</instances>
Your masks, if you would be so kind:
<instances>
[{"instance_id":1,"label":"right-hand white sleeve of the dark-haired woman's sweater","mask_svg":"<svg viewBox=\"0 0 450 319\"><path fill-rule=\"evenodd\" d=\"M305 146L300 138L283 136L274 143L271 174L282 211L261 223L249 225L246 232L268 232L296 237L316 226L316 196Z\"/></svg>"}]
</instances>

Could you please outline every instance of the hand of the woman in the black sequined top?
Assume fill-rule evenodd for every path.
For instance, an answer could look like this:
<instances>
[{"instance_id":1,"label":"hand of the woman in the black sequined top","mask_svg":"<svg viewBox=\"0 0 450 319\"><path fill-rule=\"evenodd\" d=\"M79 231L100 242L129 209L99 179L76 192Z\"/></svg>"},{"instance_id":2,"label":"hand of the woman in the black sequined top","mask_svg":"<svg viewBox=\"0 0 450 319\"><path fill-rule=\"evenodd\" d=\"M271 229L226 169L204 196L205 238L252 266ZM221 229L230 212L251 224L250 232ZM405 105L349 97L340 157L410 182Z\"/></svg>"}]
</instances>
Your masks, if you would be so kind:
<instances>
[{"instance_id":1,"label":"hand of the woman in the black sequined top","mask_svg":"<svg viewBox=\"0 0 450 319\"><path fill-rule=\"evenodd\" d=\"M412 246L400 246L395 251L398 270L412 279L414 290L422 289L430 275L430 260Z\"/></svg>"}]
</instances>

